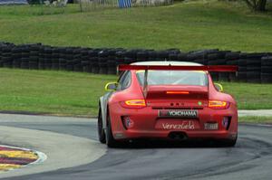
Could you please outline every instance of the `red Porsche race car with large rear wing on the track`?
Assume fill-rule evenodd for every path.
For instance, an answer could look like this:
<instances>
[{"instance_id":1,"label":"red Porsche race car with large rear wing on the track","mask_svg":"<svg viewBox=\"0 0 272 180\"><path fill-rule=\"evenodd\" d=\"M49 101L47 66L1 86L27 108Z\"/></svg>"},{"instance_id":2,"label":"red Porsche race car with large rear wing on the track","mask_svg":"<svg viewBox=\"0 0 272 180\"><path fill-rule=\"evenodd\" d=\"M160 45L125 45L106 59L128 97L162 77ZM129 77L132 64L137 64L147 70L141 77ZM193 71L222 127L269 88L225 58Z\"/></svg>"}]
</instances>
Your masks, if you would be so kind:
<instances>
[{"instance_id":1,"label":"red Porsche race car with large rear wing on the track","mask_svg":"<svg viewBox=\"0 0 272 180\"><path fill-rule=\"evenodd\" d=\"M108 147L135 138L203 138L235 146L237 103L213 83L209 71L237 67L136 62L119 71L119 80L108 83L109 92L99 100L98 135Z\"/></svg>"}]
</instances>

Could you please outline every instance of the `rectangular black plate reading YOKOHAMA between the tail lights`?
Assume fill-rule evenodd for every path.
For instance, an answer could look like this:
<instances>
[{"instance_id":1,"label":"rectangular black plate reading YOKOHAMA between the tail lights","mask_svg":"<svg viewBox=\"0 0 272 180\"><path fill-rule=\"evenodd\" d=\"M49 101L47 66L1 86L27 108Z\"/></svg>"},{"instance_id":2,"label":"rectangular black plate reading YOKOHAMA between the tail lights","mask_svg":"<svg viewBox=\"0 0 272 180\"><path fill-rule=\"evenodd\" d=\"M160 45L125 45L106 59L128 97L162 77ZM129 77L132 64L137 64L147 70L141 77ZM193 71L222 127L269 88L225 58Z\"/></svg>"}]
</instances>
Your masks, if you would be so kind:
<instances>
[{"instance_id":1,"label":"rectangular black plate reading YOKOHAMA between the tail lights","mask_svg":"<svg viewBox=\"0 0 272 180\"><path fill-rule=\"evenodd\" d=\"M159 118L199 118L199 110L195 109L160 109Z\"/></svg>"}]
</instances>

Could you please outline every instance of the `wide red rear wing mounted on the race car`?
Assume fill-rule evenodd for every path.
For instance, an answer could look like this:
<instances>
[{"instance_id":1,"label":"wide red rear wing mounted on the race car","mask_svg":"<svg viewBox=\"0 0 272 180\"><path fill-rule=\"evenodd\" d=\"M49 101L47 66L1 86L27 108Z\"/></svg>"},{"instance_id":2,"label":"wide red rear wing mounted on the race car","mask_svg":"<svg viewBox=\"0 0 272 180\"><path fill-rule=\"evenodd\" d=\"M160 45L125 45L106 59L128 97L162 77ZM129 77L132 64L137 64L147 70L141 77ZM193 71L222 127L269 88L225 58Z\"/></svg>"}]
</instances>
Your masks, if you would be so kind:
<instances>
[{"instance_id":1,"label":"wide red rear wing mounted on the race car","mask_svg":"<svg viewBox=\"0 0 272 180\"><path fill-rule=\"evenodd\" d=\"M238 66L231 65L212 65L212 66L182 66L182 65L127 65L121 64L118 66L118 71L144 71L144 81L143 81L143 95L146 98L148 93L148 71L149 70L163 70L163 71L218 71L226 72L238 71Z\"/></svg>"}]
</instances>

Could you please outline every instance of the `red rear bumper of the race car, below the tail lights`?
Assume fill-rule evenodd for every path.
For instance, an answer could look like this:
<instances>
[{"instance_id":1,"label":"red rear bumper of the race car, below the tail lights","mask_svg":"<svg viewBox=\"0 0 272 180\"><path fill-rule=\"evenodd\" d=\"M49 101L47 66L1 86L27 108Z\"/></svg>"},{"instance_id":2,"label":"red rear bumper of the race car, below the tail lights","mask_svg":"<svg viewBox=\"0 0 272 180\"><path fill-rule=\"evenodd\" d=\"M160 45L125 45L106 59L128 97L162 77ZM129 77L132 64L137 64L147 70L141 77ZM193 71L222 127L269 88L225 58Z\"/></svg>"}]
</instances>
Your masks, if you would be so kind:
<instances>
[{"instance_id":1,"label":"red rear bumper of the race car, below the tail lights","mask_svg":"<svg viewBox=\"0 0 272 180\"><path fill-rule=\"evenodd\" d=\"M190 138L213 138L213 139L234 139L238 133L238 113L234 105L228 109L199 109L199 118L196 129L163 129L155 128L158 117L158 109L146 107L144 109L124 109L116 103L110 107L112 124L112 135L117 140L133 138L170 138L170 133L183 133ZM133 120L133 127L126 128L122 122L123 117L130 117ZM229 117L228 129L222 125L222 118ZM175 118L175 121L183 119ZM170 121L171 122L171 119ZM204 128L205 123L216 122L219 128L208 130Z\"/></svg>"}]
</instances>

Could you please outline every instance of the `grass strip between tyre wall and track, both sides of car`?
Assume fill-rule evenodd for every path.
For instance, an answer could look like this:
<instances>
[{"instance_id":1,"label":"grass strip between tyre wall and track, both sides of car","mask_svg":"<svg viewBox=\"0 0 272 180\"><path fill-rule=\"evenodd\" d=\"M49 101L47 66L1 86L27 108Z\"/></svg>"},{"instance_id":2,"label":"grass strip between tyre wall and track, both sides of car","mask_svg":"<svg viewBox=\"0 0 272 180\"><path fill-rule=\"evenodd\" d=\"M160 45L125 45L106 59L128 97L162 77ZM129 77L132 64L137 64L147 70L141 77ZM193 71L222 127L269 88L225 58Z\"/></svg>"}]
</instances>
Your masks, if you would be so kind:
<instances>
[{"instance_id":1,"label":"grass strip between tyre wall and track, both sides of car","mask_svg":"<svg viewBox=\"0 0 272 180\"><path fill-rule=\"evenodd\" d=\"M0 110L96 116L104 85L114 75L0 69ZM272 109L272 84L223 82L239 109Z\"/></svg>"}]
</instances>

